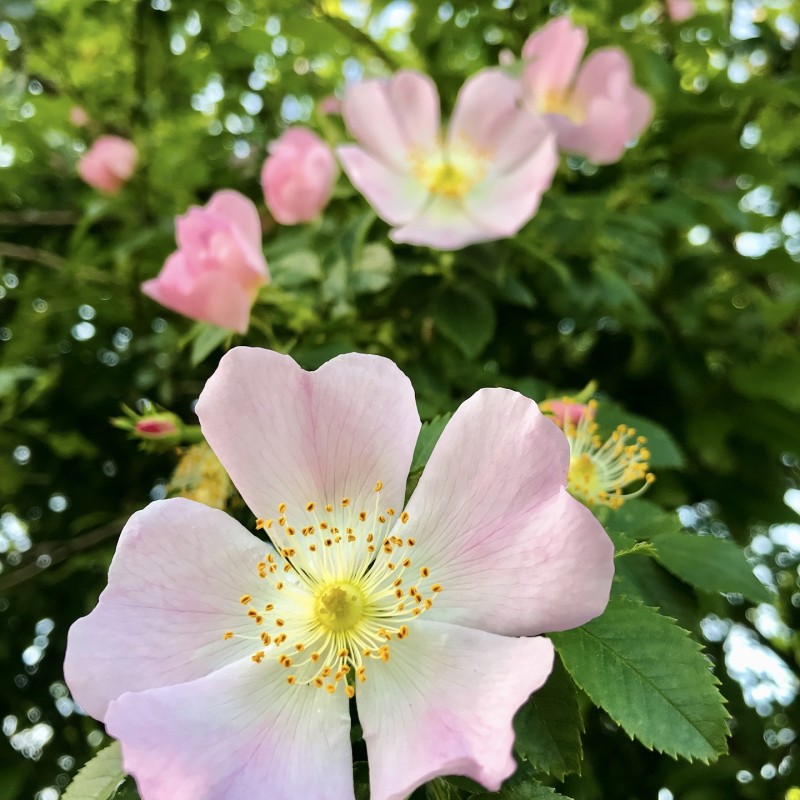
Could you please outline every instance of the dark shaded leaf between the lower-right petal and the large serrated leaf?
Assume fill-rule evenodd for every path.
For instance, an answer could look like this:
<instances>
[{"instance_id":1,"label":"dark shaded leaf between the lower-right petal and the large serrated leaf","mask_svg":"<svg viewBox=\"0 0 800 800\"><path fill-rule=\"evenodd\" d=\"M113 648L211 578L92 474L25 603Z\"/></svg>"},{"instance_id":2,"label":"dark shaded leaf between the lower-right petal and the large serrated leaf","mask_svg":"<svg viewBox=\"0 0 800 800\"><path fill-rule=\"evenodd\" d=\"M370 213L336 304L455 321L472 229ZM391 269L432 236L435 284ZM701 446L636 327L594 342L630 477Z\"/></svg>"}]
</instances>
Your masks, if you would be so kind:
<instances>
[{"instance_id":1,"label":"dark shaded leaf between the lower-right petal and the large serrated leaf","mask_svg":"<svg viewBox=\"0 0 800 800\"><path fill-rule=\"evenodd\" d=\"M547 683L514 717L515 749L536 772L561 780L581 771L583 721L575 684L556 658Z\"/></svg>"}]
</instances>

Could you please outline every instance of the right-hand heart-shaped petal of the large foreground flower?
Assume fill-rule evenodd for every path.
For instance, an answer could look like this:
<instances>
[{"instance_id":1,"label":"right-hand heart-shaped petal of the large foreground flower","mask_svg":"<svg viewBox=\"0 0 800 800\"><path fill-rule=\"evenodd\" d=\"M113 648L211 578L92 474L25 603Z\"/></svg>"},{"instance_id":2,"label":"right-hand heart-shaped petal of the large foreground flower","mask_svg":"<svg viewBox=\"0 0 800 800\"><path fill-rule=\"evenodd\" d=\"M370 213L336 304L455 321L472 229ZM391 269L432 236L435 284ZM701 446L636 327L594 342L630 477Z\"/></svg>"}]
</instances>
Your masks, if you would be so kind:
<instances>
[{"instance_id":1,"label":"right-hand heart-shaped petal of the large foreground flower","mask_svg":"<svg viewBox=\"0 0 800 800\"><path fill-rule=\"evenodd\" d=\"M614 548L591 512L563 488L564 434L536 404L482 389L453 415L407 511L418 584L436 595L426 619L531 635L601 614Z\"/></svg>"}]
</instances>

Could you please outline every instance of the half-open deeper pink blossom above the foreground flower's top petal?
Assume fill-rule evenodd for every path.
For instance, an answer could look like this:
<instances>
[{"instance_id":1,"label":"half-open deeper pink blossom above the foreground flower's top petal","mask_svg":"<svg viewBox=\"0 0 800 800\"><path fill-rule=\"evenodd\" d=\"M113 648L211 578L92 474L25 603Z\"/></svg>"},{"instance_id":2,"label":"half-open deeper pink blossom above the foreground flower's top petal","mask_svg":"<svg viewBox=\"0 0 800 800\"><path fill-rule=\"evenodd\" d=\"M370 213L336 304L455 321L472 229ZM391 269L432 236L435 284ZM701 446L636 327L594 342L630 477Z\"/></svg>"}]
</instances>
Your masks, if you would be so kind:
<instances>
[{"instance_id":1,"label":"half-open deeper pink blossom above the foreground flower's top petal","mask_svg":"<svg viewBox=\"0 0 800 800\"><path fill-rule=\"evenodd\" d=\"M225 189L175 225L178 249L142 291L186 317L245 333L258 289L269 280L255 205Z\"/></svg>"}]
</instances>

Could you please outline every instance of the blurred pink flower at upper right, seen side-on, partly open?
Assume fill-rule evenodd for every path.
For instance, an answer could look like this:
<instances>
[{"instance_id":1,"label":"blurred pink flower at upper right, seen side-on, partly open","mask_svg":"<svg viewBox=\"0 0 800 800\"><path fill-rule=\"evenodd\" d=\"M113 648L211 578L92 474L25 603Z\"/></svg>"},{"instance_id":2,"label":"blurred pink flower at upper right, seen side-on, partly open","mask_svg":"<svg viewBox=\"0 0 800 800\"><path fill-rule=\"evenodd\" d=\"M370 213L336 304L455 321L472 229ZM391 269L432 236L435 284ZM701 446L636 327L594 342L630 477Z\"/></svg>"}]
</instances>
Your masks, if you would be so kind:
<instances>
[{"instance_id":1,"label":"blurred pink flower at upper right, seen side-on, partly open","mask_svg":"<svg viewBox=\"0 0 800 800\"><path fill-rule=\"evenodd\" d=\"M619 48L595 50L578 69L586 42L586 29L566 17L531 34L522 48L523 101L546 115L561 150L610 164L648 126L653 103L634 86L630 61Z\"/></svg>"}]
</instances>

